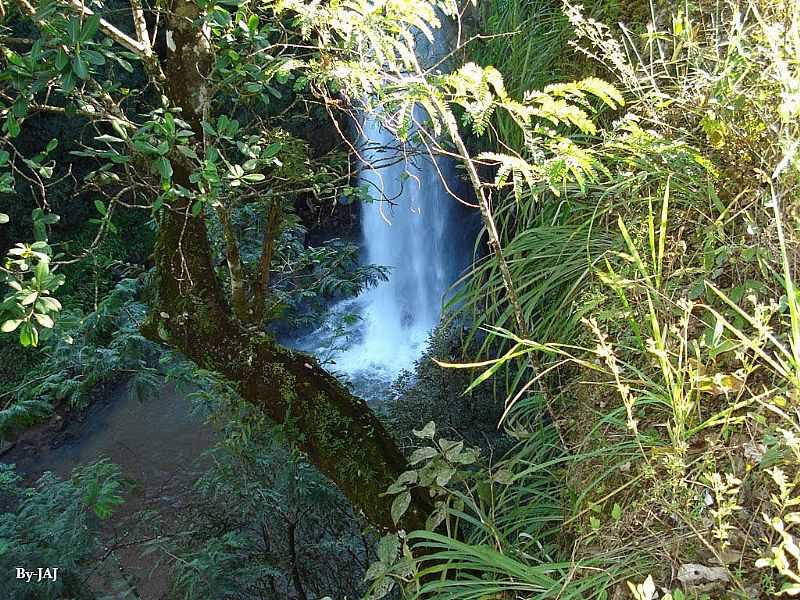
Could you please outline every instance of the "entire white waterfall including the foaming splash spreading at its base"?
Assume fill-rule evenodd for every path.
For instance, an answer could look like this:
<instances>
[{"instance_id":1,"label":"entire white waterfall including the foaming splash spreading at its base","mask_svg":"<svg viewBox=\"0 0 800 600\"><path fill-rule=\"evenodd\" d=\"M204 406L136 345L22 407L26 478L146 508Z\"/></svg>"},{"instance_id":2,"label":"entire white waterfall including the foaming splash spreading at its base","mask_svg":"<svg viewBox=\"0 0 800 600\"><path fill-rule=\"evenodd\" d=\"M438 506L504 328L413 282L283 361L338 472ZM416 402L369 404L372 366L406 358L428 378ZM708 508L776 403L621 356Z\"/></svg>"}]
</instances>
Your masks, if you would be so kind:
<instances>
[{"instance_id":1,"label":"entire white waterfall including the foaming splash spreading at its base","mask_svg":"<svg viewBox=\"0 0 800 600\"><path fill-rule=\"evenodd\" d=\"M435 37L417 48L424 62L433 64L446 52L446 32L440 29ZM422 109L415 111L417 122L424 117ZM359 184L374 199L361 207L362 261L388 267L389 279L334 306L327 323L298 345L332 358L333 370L349 377L357 393L376 399L422 354L445 294L466 265L465 241L474 232L454 197L459 187L451 159L434 160L424 147L403 148L371 118L361 123L357 137L364 162ZM348 336L337 338L337 325L348 313L360 320Z\"/></svg>"}]
</instances>

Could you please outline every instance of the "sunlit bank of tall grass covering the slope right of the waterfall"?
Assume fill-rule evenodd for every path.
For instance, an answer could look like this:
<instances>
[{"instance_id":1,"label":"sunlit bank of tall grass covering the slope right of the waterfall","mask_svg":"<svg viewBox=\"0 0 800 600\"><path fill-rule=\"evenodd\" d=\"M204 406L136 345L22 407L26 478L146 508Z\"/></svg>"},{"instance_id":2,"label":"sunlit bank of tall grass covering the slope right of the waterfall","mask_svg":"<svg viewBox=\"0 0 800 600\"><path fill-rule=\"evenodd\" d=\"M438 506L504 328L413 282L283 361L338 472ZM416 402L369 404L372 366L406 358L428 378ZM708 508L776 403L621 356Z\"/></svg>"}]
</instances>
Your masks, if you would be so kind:
<instances>
[{"instance_id":1,"label":"sunlit bank of tall grass covering the slope right of the waterfall","mask_svg":"<svg viewBox=\"0 0 800 600\"><path fill-rule=\"evenodd\" d=\"M653 7L644 35L615 35L564 4L635 116L586 141L605 169L584 189L498 195L531 339L510 332L491 258L453 308L488 331L461 365L476 382L513 364L505 425L522 439L451 513L467 535L412 534L416 595L603 597L636 572L672 587L677 565L709 560L739 594L800 592L800 5ZM545 380L542 426L531 384Z\"/></svg>"}]
</instances>

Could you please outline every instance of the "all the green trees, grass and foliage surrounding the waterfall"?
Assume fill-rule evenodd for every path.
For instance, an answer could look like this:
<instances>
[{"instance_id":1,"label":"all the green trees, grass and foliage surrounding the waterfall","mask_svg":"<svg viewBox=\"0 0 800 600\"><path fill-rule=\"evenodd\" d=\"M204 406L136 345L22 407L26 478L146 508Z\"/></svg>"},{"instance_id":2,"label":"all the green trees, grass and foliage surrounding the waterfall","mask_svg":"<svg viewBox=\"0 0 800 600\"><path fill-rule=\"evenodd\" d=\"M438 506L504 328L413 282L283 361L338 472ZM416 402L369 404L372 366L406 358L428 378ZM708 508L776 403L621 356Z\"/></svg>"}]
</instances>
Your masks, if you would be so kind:
<instances>
[{"instance_id":1,"label":"all the green trees, grass and foliage surrounding the waterfall","mask_svg":"<svg viewBox=\"0 0 800 600\"><path fill-rule=\"evenodd\" d=\"M0 431L122 374L200 386L223 441L186 534L154 545L176 593L800 593L800 4L0 7L0 194L31 215L3 225L30 241L8 243L0 328L44 347L0 392ZM415 54L468 14L452 70ZM268 333L387 276L306 243L295 214L301 197L388 200L351 185L357 112L458 161L483 224L387 417ZM75 158L20 137L44 114L81 123ZM70 160L90 165L80 249L47 202ZM70 303L70 267L136 211L152 264ZM109 468L14 492L0 549L87 564L89 542L42 549L19 524L56 505L87 519L100 475L104 516Z\"/></svg>"}]
</instances>

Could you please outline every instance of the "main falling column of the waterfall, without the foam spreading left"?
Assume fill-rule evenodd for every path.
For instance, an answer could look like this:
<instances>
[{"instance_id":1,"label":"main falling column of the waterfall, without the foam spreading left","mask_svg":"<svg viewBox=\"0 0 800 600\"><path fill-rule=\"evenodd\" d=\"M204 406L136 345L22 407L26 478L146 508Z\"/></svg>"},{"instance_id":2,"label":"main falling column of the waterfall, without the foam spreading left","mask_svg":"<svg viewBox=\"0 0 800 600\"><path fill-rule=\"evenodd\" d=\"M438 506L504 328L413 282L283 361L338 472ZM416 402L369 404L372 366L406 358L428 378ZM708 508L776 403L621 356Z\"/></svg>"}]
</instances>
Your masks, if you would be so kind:
<instances>
[{"instance_id":1,"label":"main falling column of the waterfall, without the foam spreading left","mask_svg":"<svg viewBox=\"0 0 800 600\"><path fill-rule=\"evenodd\" d=\"M336 363L348 374L386 379L413 367L458 274L457 204L442 181L452 186L455 176L450 160L406 159L392 133L374 121L364 124L363 136L360 183L375 198L362 206L364 261L390 272L359 298L360 339Z\"/></svg>"}]
</instances>

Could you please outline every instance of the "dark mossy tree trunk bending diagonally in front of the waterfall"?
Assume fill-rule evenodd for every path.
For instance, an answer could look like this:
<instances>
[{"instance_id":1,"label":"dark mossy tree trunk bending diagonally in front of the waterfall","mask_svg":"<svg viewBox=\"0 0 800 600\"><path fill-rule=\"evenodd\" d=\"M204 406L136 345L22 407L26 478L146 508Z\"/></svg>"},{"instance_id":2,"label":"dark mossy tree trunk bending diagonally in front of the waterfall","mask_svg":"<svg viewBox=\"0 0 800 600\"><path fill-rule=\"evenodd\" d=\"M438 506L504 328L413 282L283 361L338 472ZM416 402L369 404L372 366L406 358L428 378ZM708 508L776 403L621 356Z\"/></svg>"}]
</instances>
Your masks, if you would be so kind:
<instances>
[{"instance_id":1,"label":"dark mossy tree trunk bending diagonally in front of the waterfall","mask_svg":"<svg viewBox=\"0 0 800 600\"><path fill-rule=\"evenodd\" d=\"M213 55L196 26L197 4L177 0L165 91L197 135L208 111ZM173 183L192 189L189 170L176 158ZM212 265L205 219L180 200L163 211L155 248L158 306L143 327L149 338L179 350L200 367L238 386L242 397L277 423L290 441L329 477L374 525L393 529L387 487L406 469L405 459L367 404L353 396L310 355L280 346L237 318ZM415 498L400 523L421 527L428 503Z\"/></svg>"}]
</instances>

